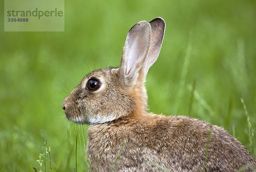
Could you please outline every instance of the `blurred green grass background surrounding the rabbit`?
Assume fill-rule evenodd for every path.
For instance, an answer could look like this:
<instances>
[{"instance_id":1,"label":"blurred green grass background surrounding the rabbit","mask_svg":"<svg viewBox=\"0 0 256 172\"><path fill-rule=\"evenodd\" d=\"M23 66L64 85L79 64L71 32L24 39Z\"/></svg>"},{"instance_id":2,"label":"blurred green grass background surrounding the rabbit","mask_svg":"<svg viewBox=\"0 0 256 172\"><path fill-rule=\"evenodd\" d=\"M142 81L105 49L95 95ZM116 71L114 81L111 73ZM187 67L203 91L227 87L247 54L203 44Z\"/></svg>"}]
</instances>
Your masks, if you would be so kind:
<instances>
[{"instance_id":1,"label":"blurred green grass background surrounding the rabbit","mask_svg":"<svg viewBox=\"0 0 256 172\"><path fill-rule=\"evenodd\" d=\"M77 168L86 171L87 126L67 122L61 102L87 74L86 63L118 66L131 26L159 16L166 32L148 72L150 111L223 126L255 156L255 0L74 0L65 1L65 32L3 32L1 25L0 171L44 170L36 160L46 138L53 171L73 170L75 131Z\"/></svg>"}]
</instances>

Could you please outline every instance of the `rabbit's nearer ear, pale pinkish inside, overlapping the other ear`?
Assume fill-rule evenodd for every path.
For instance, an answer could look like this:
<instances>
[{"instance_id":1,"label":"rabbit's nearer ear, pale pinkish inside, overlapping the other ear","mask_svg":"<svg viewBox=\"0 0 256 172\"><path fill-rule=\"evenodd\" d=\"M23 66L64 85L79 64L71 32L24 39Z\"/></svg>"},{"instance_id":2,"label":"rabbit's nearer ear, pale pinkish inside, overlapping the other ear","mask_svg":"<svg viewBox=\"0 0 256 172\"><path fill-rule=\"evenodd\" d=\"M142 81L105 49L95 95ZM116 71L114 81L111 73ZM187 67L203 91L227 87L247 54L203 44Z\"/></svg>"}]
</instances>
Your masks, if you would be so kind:
<instances>
[{"instance_id":1,"label":"rabbit's nearer ear, pale pinkish inside, overlapping the other ear","mask_svg":"<svg viewBox=\"0 0 256 172\"><path fill-rule=\"evenodd\" d=\"M146 21L135 24L125 40L120 64L120 79L126 86L134 86L144 66L151 40L151 26Z\"/></svg>"}]
</instances>

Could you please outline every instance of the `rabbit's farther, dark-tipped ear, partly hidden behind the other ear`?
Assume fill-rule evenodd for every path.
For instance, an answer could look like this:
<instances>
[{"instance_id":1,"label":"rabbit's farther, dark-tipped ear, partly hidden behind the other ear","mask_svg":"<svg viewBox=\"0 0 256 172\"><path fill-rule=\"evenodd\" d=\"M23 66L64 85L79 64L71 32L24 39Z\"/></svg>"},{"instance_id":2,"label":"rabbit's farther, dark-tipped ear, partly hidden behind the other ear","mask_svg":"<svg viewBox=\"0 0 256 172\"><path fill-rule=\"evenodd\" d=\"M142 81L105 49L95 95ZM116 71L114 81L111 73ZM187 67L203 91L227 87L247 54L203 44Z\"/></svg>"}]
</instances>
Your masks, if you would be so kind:
<instances>
[{"instance_id":1,"label":"rabbit's farther, dark-tipped ear, partly hidden behind the other ear","mask_svg":"<svg viewBox=\"0 0 256 172\"><path fill-rule=\"evenodd\" d=\"M151 25L151 43L148 52L148 57L146 59L146 73L148 72L148 69L157 60L163 43L163 35L165 31L165 21L161 17L157 17L149 23Z\"/></svg>"}]
</instances>

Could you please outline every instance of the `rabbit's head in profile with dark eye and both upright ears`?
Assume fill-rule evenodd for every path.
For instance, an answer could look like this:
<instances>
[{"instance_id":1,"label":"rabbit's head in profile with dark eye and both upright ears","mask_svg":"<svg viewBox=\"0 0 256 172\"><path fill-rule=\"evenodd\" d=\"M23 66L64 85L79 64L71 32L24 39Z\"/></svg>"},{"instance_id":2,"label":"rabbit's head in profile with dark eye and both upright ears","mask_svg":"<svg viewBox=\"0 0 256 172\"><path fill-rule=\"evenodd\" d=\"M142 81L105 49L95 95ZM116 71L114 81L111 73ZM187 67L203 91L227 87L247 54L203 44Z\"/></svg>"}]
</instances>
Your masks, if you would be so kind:
<instances>
[{"instance_id":1,"label":"rabbit's head in profile with dark eye and both upright ears","mask_svg":"<svg viewBox=\"0 0 256 172\"><path fill-rule=\"evenodd\" d=\"M143 116L147 110L145 77L160 53L164 31L160 17L135 24L126 37L120 67L91 72L64 99L67 118L96 124Z\"/></svg>"}]
</instances>

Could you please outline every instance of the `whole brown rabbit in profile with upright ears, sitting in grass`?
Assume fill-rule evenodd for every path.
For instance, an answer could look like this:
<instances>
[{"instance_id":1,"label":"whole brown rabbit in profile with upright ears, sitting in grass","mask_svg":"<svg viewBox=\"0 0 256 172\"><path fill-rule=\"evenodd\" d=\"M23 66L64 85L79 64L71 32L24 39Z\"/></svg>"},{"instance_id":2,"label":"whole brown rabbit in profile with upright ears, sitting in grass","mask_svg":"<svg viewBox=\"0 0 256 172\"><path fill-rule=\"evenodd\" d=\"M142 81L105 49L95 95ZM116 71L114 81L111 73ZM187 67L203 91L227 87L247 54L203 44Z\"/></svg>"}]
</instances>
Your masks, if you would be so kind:
<instances>
[{"instance_id":1,"label":"whole brown rabbit in profile with upright ears, sitting in grass","mask_svg":"<svg viewBox=\"0 0 256 172\"><path fill-rule=\"evenodd\" d=\"M225 129L186 116L148 113L145 78L163 43L165 21L135 24L119 68L86 75L62 103L68 120L89 124L91 171L253 171L256 159Z\"/></svg>"}]
</instances>

